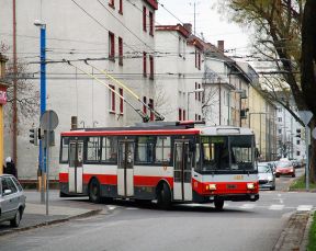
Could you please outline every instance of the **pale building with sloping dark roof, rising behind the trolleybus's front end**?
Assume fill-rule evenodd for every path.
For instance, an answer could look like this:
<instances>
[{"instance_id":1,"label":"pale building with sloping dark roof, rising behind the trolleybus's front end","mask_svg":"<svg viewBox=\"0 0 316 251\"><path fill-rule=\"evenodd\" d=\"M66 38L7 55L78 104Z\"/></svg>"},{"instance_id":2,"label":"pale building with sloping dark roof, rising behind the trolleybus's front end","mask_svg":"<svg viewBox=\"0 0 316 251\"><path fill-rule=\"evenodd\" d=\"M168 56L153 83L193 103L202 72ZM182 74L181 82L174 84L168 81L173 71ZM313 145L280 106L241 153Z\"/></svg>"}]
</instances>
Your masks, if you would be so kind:
<instances>
[{"instance_id":1,"label":"pale building with sloping dark roof, rising behind the trolleybus's front end","mask_svg":"<svg viewBox=\"0 0 316 251\"><path fill-rule=\"evenodd\" d=\"M217 47L205 44L204 109L206 124L247 126L248 73L224 55L224 42Z\"/></svg>"}]
</instances>

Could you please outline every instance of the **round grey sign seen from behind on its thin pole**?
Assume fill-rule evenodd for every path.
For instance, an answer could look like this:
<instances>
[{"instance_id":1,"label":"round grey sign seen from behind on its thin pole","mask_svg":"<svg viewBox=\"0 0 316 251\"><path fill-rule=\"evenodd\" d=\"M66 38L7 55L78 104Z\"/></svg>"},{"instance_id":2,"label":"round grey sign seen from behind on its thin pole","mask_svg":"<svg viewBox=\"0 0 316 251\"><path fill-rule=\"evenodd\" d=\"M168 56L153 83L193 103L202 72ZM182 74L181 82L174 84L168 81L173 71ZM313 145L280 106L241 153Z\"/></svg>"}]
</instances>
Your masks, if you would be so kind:
<instances>
[{"instance_id":1,"label":"round grey sign seen from behind on its thin pole","mask_svg":"<svg viewBox=\"0 0 316 251\"><path fill-rule=\"evenodd\" d=\"M54 137L54 129L58 125L58 116L57 114L52 111L47 110L43 115L41 116L41 128L44 130L44 140L43 140L43 147L44 152L46 151L46 215L48 215L48 192L49 192L49 147L53 145L52 142L55 141L54 138L50 137L53 135Z\"/></svg>"}]
</instances>

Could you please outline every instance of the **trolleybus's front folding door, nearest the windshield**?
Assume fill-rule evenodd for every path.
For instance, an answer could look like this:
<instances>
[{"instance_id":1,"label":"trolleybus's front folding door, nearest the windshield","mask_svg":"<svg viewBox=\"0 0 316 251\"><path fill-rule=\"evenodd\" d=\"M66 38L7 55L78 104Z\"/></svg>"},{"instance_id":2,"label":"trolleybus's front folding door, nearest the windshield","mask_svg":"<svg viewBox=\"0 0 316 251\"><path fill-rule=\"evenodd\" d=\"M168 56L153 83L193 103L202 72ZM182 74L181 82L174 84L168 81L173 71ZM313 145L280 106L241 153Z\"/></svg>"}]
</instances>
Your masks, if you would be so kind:
<instances>
[{"instance_id":1,"label":"trolleybus's front folding door, nearest the windshield","mask_svg":"<svg viewBox=\"0 0 316 251\"><path fill-rule=\"evenodd\" d=\"M188 141L174 142L173 199L192 201L192 163Z\"/></svg>"}]
</instances>

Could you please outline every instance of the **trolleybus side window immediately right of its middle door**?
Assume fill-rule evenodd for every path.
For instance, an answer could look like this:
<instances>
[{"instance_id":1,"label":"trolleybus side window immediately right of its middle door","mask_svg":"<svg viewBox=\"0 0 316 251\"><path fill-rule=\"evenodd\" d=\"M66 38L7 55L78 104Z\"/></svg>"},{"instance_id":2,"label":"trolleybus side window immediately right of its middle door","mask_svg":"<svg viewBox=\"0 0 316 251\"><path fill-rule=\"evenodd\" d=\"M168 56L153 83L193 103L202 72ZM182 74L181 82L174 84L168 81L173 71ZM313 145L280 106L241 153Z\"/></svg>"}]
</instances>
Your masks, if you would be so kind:
<instances>
[{"instance_id":1,"label":"trolleybus side window immediately right of its middle door","mask_svg":"<svg viewBox=\"0 0 316 251\"><path fill-rule=\"evenodd\" d=\"M136 139L136 163L153 163L156 137L144 136Z\"/></svg>"}]
</instances>

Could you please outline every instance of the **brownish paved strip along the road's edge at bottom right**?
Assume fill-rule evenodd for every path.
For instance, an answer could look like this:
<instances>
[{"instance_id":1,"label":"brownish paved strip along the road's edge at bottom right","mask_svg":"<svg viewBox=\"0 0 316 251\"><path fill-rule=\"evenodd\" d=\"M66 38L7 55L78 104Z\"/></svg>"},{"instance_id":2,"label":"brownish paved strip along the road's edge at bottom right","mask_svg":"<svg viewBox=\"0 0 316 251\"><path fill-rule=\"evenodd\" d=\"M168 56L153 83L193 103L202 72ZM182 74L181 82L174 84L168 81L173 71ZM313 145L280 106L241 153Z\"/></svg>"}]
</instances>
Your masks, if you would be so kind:
<instances>
[{"instance_id":1,"label":"brownish paved strip along the road's edge at bottom right","mask_svg":"<svg viewBox=\"0 0 316 251\"><path fill-rule=\"evenodd\" d=\"M295 212L290 216L285 228L281 232L273 251L305 250L308 240L309 220L312 212ZM303 249L305 247L305 249Z\"/></svg>"}]
</instances>

